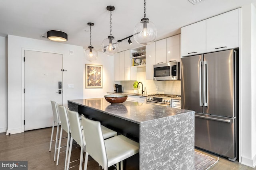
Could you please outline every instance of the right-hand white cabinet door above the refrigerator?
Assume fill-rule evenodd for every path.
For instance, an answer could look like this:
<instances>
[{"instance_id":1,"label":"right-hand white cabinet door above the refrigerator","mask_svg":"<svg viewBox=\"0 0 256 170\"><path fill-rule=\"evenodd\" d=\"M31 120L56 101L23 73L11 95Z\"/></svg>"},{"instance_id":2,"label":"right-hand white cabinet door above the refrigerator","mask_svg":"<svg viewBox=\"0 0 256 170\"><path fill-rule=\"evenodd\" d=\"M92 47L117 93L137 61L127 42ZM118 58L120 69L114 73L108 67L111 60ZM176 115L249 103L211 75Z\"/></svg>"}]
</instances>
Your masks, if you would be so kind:
<instances>
[{"instance_id":1,"label":"right-hand white cabinet door above the refrigerator","mask_svg":"<svg viewBox=\"0 0 256 170\"><path fill-rule=\"evenodd\" d=\"M239 45L239 9L206 20L206 52Z\"/></svg>"}]
</instances>

